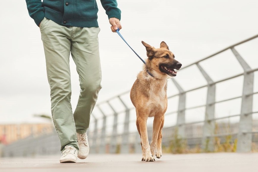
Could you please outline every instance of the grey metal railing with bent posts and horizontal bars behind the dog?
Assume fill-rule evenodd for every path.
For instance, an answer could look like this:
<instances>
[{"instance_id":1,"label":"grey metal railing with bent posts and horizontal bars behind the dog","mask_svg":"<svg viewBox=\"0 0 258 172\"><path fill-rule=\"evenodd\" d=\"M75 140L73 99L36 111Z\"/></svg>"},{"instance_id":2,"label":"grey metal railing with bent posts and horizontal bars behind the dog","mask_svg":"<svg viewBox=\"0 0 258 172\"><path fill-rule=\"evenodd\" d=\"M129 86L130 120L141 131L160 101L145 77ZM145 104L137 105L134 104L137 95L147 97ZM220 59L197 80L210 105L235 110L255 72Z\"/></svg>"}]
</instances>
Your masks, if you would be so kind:
<instances>
[{"instance_id":1,"label":"grey metal railing with bent posts and horizontal bars behind the dog","mask_svg":"<svg viewBox=\"0 0 258 172\"><path fill-rule=\"evenodd\" d=\"M251 143L252 143L252 135L254 133L257 133L258 131L252 130L252 114L258 113L253 112L253 95L257 94L258 92L254 92L254 72L258 71L258 68L251 69L250 66L246 63L246 61L241 57L241 55L238 53L238 51L235 49L236 46L246 43L250 40L253 40L257 38L258 35L255 35L249 39L243 40L241 42L238 42L237 44L233 44L227 48L224 48L223 50L220 50L219 52L216 52L212 55L209 55L206 58L203 58L201 60L198 60L195 63L191 63L187 66L184 66L181 70L185 70L191 66L197 66L200 73L205 78L207 84L198 86L189 90L184 90L179 82L177 82L175 79L172 78L173 84L178 89L179 93L174 94L171 96L168 96L168 99L179 97L179 104L178 109L173 112L167 112L165 115L168 114L174 114L177 113L177 120L176 125L163 128L163 131L168 131L168 134L166 135L167 138L164 138L163 135L163 142L171 140L171 133L173 133L174 129L177 129L178 135L183 139L199 139L201 144L201 147L208 151L214 150L214 138L215 137L222 137L227 135L235 136L235 138L238 139L237 142L237 152L249 152L251 151ZM208 73L203 69L203 67L200 65L200 62L203 62L204 60L207 60L209 58L212 58L216 55L219 55L220 53L223 53L227 50L231 50L235 58L240 63L241 67L243 68L243 72L240 74L235 74L233 76L220 79L218 81L213 81L211 77L208 75ZM180 71L181 71L180 70ZM243 93L241 96L235 96L232 98L227 98L221 101L216 101L216 84L243 76ZM207 97L206 97L206 103L203 105L193 106L186 108L186 94L194 91L199 90L201 88L207 88ZM169 87L168 87L169 89ZM126 91L125 93L116 95L112 98L109 98L107 101L103 101L101 103L98 103L95 107L95 109L98 109L98 111L101 113L102 117L96 117L96 110L93 111L93 118L94 120L91 120L91 126L94 126L88 130L88 135L90 135L92 141L90 142L91 145L91 151L97 152L97 153L115 153L115 152L122 152L122 153L129 153L129 152L140 152L140 137L138 136L138 132L135 130L130 132L129 125L131 123L135 124L135 120L130 120L131 115L136 115L133 113L134 107L130 105L128 100L130 100L129 96L130 90ZM126 96L126 97L125 97ZM125 97L125 98L122 98ZM111 103L113 100L117 100L120 102L118 105L117 103ZM222 103L226 101L232 101L235 99L241 99L241 112L240 114L234 114L227 117L215 117L215 105L216 103ZM103 111L103 108L101 106L105 105L108 106L109 109L112 109L112 112L105 112ZM117 110L116 106L122 106L124 107L123 110ZM185 120L185 112L189 109L196 109L200 107L205 107L205 119L195 122L186 122ZM99 113L98 112L98 113ZM118 122L118 117L124 114L125 118L121 122ZM113 123L110 125L107 124L107 117L113 117ZM240 117L239 123L238 123L238 132L231 132L231 133L215 133L215 125L216 120L222 120L226 118L232 118L232 117ZM100 121L102 124L100 124ZM187 126L189 125L201 125L202 128L202 136L199 137L187 137L186 130ZM202 125L203 124L203 125ZM101 126L99 128L99 126ZM112 127L112 131L107 132L106 128L107 126ZM118 125L123 126L122 133L118 133ZM136 125L134 126L136 128ZM151 133L148 132L151 136ZM149 138L150 139L150 138ZM207 143L207 140L208 143ZM195 143L196 144L196 143Z\"/></svg>"}]
</instances>

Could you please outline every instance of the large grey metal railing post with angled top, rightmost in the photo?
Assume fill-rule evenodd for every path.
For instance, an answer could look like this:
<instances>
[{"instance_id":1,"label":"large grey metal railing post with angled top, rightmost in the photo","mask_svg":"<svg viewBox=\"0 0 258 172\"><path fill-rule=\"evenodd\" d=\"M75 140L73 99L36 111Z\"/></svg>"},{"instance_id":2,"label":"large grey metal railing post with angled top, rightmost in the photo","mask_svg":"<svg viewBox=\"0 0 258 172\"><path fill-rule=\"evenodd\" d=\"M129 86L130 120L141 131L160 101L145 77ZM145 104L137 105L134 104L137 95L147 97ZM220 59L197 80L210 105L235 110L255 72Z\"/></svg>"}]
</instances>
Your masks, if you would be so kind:
<instances>
[{"instance_id":1,"label":"large grey metal railing post with angled top, rightmost in the photo","mask_svg":"<svg viewBox=\"0 0 258 172\"><path fill-rule=\"evenodd\" d=\"M231 48L236 59L244 69L244 83L243 83L243 95L241 103L241 114L239 121L238 130L238 145L237 152L250 152L252 144L252 111L253 111L253 90L254 90L254 73L247 71L250 66L241 57L241 55L235 50L234 47ZM250 95L251 94L251 95ZM248 95L248 96L247 96Z\"/></svg>"}]
</instances>

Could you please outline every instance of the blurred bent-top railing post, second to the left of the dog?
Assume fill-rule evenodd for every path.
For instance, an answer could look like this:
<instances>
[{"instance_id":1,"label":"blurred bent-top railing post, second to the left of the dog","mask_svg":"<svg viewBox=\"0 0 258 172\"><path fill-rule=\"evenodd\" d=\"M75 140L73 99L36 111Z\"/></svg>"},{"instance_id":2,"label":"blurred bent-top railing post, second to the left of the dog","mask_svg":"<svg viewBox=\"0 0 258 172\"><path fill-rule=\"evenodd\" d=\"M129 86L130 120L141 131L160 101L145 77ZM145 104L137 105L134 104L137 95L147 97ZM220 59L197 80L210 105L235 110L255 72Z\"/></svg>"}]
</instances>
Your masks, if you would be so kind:
<instances>
[{"instance_id":1,"label":"blurred bent-top railing post, second to the left of the dog","mask_svg":"<svg viewBox=\"0 0 258 172\"><path fill-rule=\"evenodd\" d=\"M113 123L113 133L111 136L111 141L110 141L110 153L116 153L116 148L117 148L117 112L115 111L114 107L107 101L109 107L113 110L114 112L114 123Z\"/></svg>"}]
</instances>

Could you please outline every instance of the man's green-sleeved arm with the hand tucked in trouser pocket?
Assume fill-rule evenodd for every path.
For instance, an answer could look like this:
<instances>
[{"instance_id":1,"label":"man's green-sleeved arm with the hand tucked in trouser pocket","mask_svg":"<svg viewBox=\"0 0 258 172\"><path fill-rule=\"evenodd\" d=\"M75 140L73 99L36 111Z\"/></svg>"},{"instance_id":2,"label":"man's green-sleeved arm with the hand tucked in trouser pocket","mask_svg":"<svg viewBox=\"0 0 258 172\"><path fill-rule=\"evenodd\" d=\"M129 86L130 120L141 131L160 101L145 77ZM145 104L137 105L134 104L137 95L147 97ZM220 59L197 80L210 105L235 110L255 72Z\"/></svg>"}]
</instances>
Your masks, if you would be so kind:
<instances>
[{"instance_id":1,"label":"man's green-sleeved arm with the hand tucked in trouser pocket","mask_svg":"<svg viewBox=\"0 0 258 172\"><path fill-rule=\"evenodd\" d=\"M42 7L41 0L26 0L27 9L31 18L34 19L37 26L44 19L44 7Z\"/></svg>"}]
</instances>

